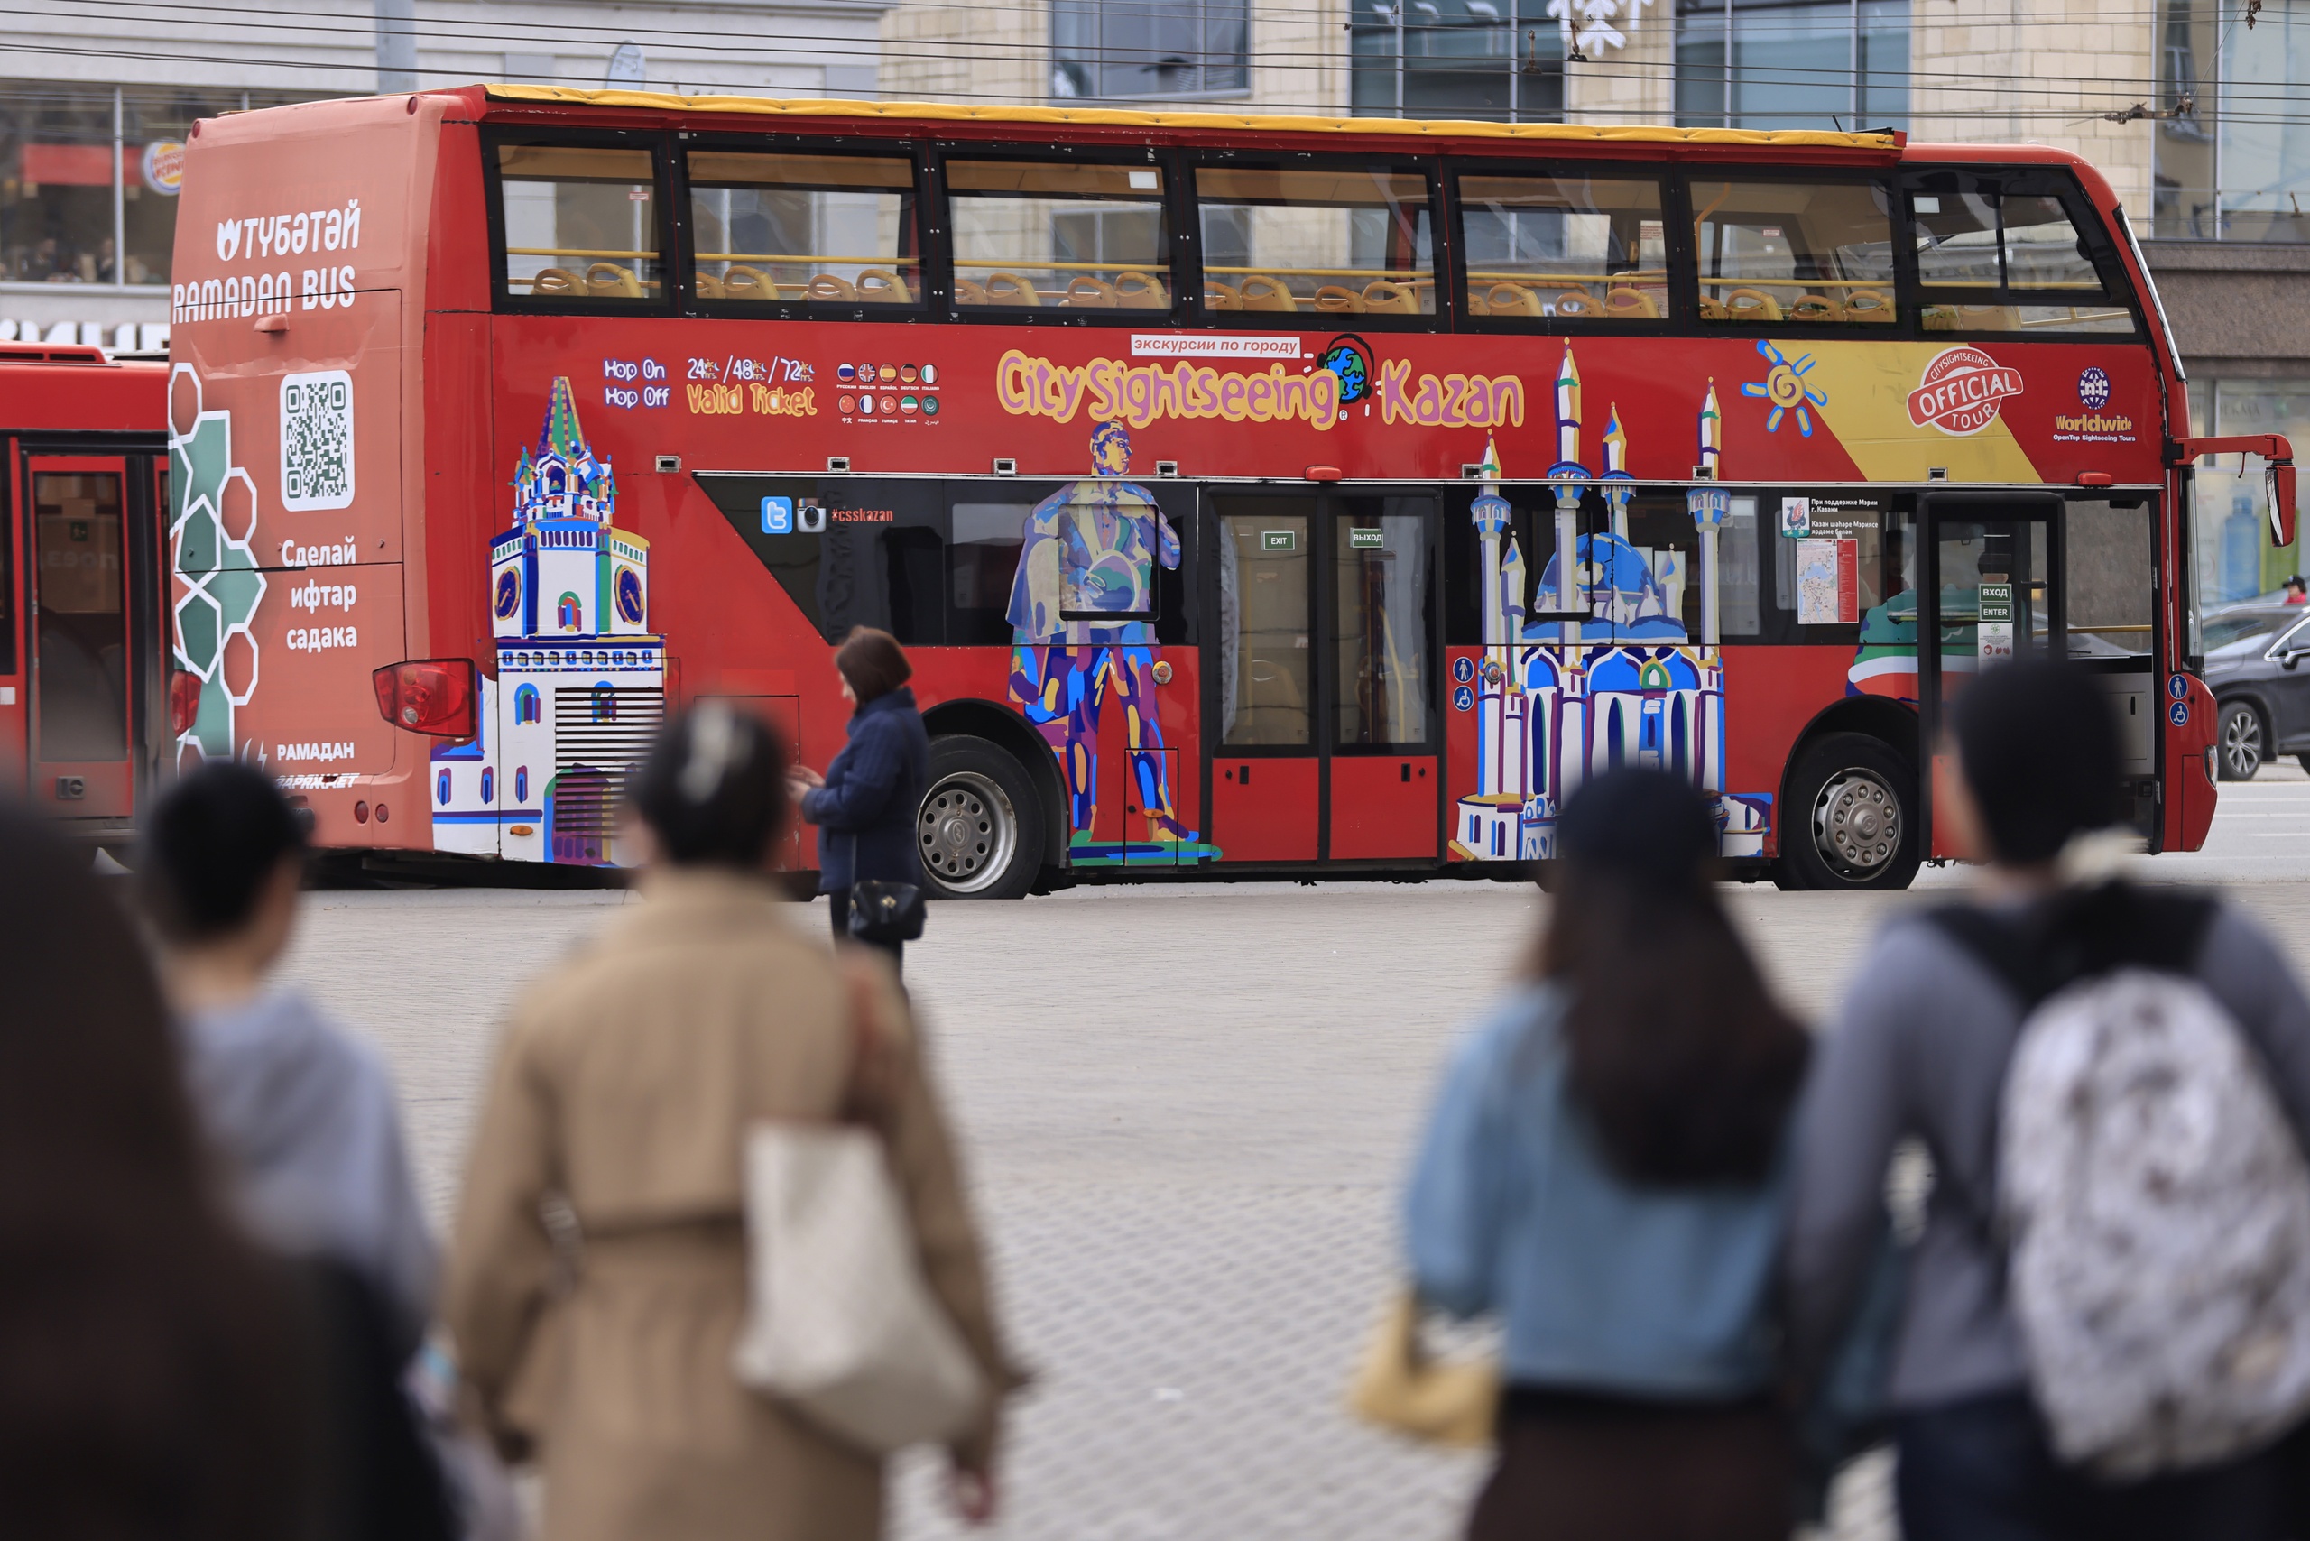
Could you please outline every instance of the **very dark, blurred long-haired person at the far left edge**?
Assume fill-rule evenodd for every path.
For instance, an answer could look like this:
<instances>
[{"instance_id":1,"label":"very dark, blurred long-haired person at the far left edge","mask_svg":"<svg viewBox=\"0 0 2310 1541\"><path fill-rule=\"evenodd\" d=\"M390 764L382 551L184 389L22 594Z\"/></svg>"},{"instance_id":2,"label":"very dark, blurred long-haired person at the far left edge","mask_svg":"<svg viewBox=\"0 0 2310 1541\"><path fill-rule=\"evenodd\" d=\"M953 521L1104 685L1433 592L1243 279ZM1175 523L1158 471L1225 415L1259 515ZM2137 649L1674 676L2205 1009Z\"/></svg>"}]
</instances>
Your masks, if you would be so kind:
<instances>
[{"instance_id":1,"label":"very dark, blurred long-haired person at the far left edge","mask_svg":"<svg viewBox=\"0 0 2310 1541\"><path fill-rule=\"evenodd\" d=\"M159 982L113 901L0 809L0 1529L312 1534L300 1294L233 1224Z\"/></svg>"}]
</instances>

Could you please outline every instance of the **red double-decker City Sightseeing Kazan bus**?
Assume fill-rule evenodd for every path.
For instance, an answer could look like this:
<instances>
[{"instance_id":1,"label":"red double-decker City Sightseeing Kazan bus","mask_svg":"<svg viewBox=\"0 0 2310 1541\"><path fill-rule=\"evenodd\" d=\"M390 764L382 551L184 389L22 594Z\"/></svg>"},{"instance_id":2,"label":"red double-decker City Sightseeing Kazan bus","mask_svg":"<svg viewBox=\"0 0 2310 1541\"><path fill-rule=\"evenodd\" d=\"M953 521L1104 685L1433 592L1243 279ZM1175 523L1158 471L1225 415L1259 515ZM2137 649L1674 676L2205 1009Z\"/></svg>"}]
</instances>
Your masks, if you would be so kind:
<instances>
[{"instance_id":1,"label":"red double-decker City Sightseeing Kazan bus","mask_svg":"<svg viewBox=\"0 0 2310 1541\"><path fill-rule=\"evenodd\" d=\"M1527 873L1629 762L1906 885L2021 652L2153 850L2213 816L2215 441L2063 152L476 85L201 122L182 199L176 497L254 513L178 524L261 585L180 755L323 843L614 864L684 702L822 765L859 624L949 894Z\"/></svg>"}]
</instances>

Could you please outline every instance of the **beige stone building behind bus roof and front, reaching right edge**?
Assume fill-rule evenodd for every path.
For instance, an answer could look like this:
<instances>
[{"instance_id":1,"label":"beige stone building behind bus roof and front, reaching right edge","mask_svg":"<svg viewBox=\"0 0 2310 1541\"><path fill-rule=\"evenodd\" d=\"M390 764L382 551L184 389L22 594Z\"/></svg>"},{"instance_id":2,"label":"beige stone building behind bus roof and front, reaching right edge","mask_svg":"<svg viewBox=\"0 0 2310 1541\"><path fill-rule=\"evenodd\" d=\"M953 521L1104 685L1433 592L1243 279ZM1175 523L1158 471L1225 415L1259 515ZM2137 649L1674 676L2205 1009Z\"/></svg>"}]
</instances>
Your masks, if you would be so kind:
<instances>
[{"instance_id":1,"label":"beige stone building behind bus roof and front, reaching right edge","mask_svg":"<svg viewBox=\"0 0 2310 1541\"><path fill-rule=\"evenodd\" d=\"M1899 127L2100 166L2192 432L2310 451L2310 0L896 0L882 95L1243 113ZM2257 467L2204 467L2208 605L2301 571Z\"/></svg>"}]
</instances>

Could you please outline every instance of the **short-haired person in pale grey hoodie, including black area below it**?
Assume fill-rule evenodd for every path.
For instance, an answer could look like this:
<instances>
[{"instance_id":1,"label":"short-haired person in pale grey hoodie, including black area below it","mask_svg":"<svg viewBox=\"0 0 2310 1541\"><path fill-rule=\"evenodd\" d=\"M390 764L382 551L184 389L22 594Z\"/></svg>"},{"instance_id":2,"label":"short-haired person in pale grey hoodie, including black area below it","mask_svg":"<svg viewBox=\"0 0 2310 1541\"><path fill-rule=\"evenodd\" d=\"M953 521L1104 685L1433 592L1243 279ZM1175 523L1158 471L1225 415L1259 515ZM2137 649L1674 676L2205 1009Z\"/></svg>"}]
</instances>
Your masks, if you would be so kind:
<instances>
[{"instance_id":1,"label":"short-haired person in pale grey hoodie, including black area below it","mask_svg":"<svg viewBox=\"0 0 2310 1541\"><path fill-rule=\"evenodd\" d=\"M270 984L296 936L305 825L263 772L213 760L148 811L136 889L159 938L185 1084L224 1197L298 1261L323 1386L326 1532L420 1541L455 1527L407 1395L439 1252L383 1058L298 989ZM446 1430L439 1430L448 1437Z\"/></svg>"}]
</instances>

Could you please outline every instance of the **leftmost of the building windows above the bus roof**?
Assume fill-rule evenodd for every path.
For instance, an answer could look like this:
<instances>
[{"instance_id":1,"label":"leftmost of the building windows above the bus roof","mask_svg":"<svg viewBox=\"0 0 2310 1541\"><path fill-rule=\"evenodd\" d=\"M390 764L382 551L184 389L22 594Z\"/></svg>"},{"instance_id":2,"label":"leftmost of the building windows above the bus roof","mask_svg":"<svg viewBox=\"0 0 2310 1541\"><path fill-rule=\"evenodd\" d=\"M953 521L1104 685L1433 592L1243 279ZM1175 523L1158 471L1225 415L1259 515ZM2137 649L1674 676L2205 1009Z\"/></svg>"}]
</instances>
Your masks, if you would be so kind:
<instances>
[{"instance_id":1,"label":"leftmost of the building windows above the bus roof","mask_svg":"<svg viewBox=\"0 0 2310 1541\"><path fill-rule=\"evenodd\" d=\"M1213 97L1250 88L1247 0L1051 0L1053 97Z\"/></svg>"}]
</instances>

